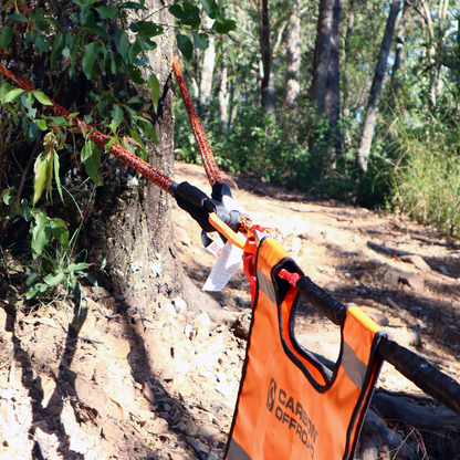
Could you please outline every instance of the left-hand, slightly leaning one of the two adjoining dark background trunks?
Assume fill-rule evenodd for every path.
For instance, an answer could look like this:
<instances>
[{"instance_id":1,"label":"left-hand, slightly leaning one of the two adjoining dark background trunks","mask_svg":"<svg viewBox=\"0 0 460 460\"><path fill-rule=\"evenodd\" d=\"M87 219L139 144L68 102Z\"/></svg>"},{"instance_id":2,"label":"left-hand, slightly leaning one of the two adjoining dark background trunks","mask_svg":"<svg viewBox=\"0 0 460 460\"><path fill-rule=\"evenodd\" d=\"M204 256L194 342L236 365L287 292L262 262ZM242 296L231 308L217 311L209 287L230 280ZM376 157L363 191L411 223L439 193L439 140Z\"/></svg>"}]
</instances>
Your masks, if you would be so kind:
<instances>
[{"instance_id":1,"label":"left-hand, slightly leaning one of the two adjoining dark background trunks","mask_svg":"<svg viewBox=\"0 0 460 460\"><path fill-rule=\"evenodd\" d=\"M314 55L312 102L316 103L316 115L324 113L327 74L331 55L331 33L335 0L320 1L320 19Z\"/></svg>"}]
</instances>

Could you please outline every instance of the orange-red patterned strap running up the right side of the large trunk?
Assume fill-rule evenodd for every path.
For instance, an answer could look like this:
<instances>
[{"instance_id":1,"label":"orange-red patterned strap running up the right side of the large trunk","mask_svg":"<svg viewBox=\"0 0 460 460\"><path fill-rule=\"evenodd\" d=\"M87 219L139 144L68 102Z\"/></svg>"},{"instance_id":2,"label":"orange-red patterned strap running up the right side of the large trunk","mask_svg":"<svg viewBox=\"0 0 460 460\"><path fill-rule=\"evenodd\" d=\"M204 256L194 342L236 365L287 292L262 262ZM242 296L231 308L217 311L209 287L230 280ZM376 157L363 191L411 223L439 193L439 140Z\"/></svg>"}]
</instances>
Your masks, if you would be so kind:
<instances>
[{"instance_id":1,"label":"orange-red patterned strap running up the right side of the large trunk","mask_svg":"<svg viewBox=\"0 0 460 460\"><path fill-rule=\"evenodd\" d=\"M186 105L191 130L194 132L194 136L201 155L206 175L208 176L209 184L212 187L216 182L222 182L222 177L220 176L219 168L217 167L211 147L209 147L208 138L206 137L206 134L201 127L200 119L198 118L198 115L195 112L194 105L191 103L190 96L188 95L186 82L184 80L184 75L180 71L179 62L177 61L176 56L172 56L172 70L174 74L176 75L180 93L182 94L184 104Z\"/></svg>"}]
</instances>

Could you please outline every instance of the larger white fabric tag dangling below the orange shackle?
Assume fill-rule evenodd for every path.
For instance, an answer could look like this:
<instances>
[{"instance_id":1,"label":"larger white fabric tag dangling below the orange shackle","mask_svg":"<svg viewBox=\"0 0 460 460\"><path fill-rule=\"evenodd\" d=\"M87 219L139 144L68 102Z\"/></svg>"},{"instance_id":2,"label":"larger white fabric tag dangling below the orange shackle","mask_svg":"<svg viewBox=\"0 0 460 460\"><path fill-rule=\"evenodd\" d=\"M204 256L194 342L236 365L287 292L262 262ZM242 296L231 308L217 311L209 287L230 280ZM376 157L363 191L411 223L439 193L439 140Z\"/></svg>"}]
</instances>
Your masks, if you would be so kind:
<instances>
[{"instance_id":1,"label":"larger white fabric tag dangling below the orange shackle","mask_svg":"<svg viewBox=\"0 0 460 460\"><path fill-rule=\"evenodd\" d=\"M211 292L218 292L222 290L238 272L242 255L242 249L233 245L230 241L227 241L220 258L217 260L215 266L211 270L211 273L202 286L202 290Z\"/></svg>"}]
</instances>

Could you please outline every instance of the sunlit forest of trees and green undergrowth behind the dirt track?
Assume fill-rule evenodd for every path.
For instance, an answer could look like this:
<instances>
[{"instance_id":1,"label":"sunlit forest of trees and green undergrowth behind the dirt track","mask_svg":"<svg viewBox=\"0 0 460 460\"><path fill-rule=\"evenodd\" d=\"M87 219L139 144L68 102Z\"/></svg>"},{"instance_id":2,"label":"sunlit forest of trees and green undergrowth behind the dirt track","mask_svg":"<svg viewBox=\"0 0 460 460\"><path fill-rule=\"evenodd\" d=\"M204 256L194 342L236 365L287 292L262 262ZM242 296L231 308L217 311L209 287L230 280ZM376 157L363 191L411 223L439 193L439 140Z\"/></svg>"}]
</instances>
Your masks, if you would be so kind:
<instances>
[{"instance_id":1,"label":"sunlit forest of trees and green undergrowth behind the dirt track","mask_svg":"<svg viewBox=\"0 0 460 460\"><path fill-rule=\"evenodd\" d=\"M460 223L459 2L229 2L187 65L219 165L306 194ZM231 60L222 60L223 54ZM176 104L176 154L199 163Z\"/></svg>"}]
</instances>

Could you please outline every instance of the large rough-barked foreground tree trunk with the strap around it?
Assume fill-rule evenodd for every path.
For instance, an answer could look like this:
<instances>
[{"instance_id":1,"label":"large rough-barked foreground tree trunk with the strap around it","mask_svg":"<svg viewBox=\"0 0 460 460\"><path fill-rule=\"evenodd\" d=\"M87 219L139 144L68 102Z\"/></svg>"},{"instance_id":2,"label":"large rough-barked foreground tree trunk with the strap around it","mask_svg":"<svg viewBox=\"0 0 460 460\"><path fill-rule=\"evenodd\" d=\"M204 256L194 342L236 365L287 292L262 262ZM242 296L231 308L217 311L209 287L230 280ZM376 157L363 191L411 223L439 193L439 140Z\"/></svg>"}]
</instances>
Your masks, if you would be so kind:
<instances>
[{"instance_id":1,"label":"large rough-barked foreground tree trunk with the strap around it","mask_svg":"<svg viewBox=\"0 0 460 460\"><path fill-rule=\"evenodd\" d=\"M157 0L147 0L150 11L160 9ZM156 21L172 24L166 10ZM158 48L148 53L149 64L160 85L161 115L155 125L157 145L150 142L148 161L171 176L174 172L172 96L166 84L172 63L174 31L155 39ZM148 76L148 75L145 75ZM138 92L147 100L146 88ZM159 293L172 293L180 286L174 248L170 242L171 199L168 194L114 163L109 179L96 189L95 209L87 222L90 255L107 260L106 271L126 303L148 313ZM129 174L138 180L129 180ZM180 288L179 288L180 289Z\"/></svg>"}]
</instances>

